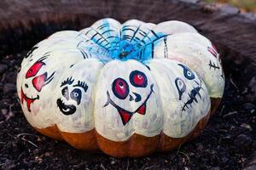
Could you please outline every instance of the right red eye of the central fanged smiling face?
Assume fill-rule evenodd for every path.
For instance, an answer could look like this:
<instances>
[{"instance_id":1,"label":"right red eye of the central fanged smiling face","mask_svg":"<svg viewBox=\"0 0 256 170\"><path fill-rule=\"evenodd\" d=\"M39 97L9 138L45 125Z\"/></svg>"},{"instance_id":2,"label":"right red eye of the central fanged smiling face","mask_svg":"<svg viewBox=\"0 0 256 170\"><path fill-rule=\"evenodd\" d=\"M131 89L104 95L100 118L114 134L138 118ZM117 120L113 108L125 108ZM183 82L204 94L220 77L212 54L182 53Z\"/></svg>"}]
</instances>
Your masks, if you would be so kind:
<instances>
[{"instance_id":1,"label":"right red eye of the central fanged smiling face","mask_svg":"<svg viewBox=\"0 0 256 170\"><path fill-rule=\"evenodd\" d=\"M130 82L138 88L146 88L148 85L148 79L142 71L131 71Z\"/></svg>"}]
</instances>

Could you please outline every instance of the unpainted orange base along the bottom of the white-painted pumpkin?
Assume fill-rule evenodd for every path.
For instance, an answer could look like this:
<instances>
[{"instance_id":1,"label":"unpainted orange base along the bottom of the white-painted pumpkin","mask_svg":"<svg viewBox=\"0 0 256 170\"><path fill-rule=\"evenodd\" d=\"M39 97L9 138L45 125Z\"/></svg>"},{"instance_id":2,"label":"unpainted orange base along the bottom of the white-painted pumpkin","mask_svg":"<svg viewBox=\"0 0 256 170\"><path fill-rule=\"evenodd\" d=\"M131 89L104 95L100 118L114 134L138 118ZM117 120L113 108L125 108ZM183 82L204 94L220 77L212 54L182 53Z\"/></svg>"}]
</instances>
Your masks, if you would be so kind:
<instances>
[{"instance_id":1,"label":"unpainted orange base along the bottom of the white-painted pumpkin","mask_svg":"<svg viewBox=\"0 0 256 170\"><path fill-rule=\"evenodd\" d=\"M57 126L36 130L52 139L67 141L68 144L79 150L102 150L109 156L114 157L139 157L148 156L154 151L168 151L177 148L180 144L195 139L206 127L209 117L217 110L221 99L211 99L211 110L207 116L197 123L193 131L183 138L171 138L165 133L154 137L145 137L140 134L133 134L130 139L124 142L114 142L105 139L95 129L86 133L61 132Z\"/></svg>"}]
</instances>

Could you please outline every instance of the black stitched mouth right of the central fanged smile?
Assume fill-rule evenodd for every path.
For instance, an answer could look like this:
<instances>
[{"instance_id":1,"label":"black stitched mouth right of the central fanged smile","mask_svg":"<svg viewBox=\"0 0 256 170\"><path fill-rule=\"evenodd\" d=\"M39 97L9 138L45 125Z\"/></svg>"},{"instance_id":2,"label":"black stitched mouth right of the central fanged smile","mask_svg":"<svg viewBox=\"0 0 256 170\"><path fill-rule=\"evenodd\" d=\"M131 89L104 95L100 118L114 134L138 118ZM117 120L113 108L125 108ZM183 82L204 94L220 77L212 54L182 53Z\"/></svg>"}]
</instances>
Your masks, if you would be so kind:
<instances>
[{"instance_id":1,"label":"black stitched mouth right of the central fanged smile","mask_svg":"<svg viewBox=\"0 0 256 170\"><path fill-rule=\"evenodd\" d=\"M182 111L186 111L186 108L189 109L189 105L192 107L192 104L198 103L198 100L196 99L196 96L199 96L199 98L201 99L201 94L200 91L203 90L203 88L201 88L201 80L200 83L196 82L195 83L198 85L196 88L193 88L190 93L189 93L189 99L186 103L184 103L183 105L183 109Z\"/></svg>"}]
</instances>

